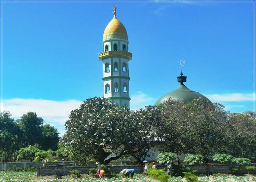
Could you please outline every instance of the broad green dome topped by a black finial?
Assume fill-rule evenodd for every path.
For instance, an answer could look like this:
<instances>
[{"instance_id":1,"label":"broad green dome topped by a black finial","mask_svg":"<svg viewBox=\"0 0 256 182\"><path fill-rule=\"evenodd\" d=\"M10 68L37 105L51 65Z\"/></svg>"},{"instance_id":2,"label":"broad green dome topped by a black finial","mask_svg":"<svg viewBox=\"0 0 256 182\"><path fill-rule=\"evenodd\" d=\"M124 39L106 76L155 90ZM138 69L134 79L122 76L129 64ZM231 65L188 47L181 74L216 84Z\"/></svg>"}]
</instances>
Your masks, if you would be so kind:
<instances>
[{"instance_id":1,"label":"broad green dome topped by a black finial","mask_svg":"<svg viewBox=\"0 0 256 182\"><path fill-rule=\"evenodd\" d=\"M181 73L181 76L178 76L178 82L181 82L181 84L173 90L172 92L169 92L165 95L163 95L161 98L157 100L155 103L155 106L158 106L159 104L163 103L167 98L171 97L175 100L183 99L184 102L190 102L193 99L198 99L199 97L202 97L209 102L211 102L209 99L207 99L204 95L200 94L199 92L195 92L190 90L188 87L186 87L183 82L186 82L187 76L182 76L183 74Z\"/></svg>"}]
</instances>

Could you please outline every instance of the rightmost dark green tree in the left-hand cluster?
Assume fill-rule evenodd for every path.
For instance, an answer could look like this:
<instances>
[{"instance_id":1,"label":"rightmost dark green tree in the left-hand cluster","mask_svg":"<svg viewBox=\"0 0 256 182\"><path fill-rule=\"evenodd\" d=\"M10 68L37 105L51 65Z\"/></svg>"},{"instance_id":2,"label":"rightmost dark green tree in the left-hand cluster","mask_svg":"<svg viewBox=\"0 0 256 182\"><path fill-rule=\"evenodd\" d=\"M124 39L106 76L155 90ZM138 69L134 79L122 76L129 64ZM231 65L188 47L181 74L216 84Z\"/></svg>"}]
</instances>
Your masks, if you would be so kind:
<instances>
[{"instance_id":1,"label":"rightmost dark green tree in the left-hand cluster","mask_svg":"<svg viewBox=\"0 0 256 182\"><path fill-rule=\"evenodd\" d=\"M50 124L44 124L41 128L42 131L42 139L41 146L43 150L57 150L58 142L59 142L59 133L56 128L50 126Z\"/></svg>"}]
</instances>

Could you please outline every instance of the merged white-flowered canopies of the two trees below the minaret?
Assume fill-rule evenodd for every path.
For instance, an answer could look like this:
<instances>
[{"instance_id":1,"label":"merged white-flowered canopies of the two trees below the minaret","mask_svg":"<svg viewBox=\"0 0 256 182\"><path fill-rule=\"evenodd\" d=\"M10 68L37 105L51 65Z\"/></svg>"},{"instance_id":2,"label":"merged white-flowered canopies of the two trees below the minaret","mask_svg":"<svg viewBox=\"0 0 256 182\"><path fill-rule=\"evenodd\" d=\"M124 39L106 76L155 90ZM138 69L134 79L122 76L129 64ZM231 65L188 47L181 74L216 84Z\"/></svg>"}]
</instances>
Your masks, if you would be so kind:
<instances>
[{"instance_id":1,"label":"merged white-flowered canopies of the two trees below the minaret","mask_svg":"<svg viewBox=\"0 0 256 182\"><path fill-rule=\"evenodd\" d=\"M90 98L71 111L62 142L70 147L72 157L79 164L90 158L108 164L128 156L142 163L155 137L152 128L159 120L158 112L155 106L130 111L104 98Z\"/></svg>"}]
</instances>

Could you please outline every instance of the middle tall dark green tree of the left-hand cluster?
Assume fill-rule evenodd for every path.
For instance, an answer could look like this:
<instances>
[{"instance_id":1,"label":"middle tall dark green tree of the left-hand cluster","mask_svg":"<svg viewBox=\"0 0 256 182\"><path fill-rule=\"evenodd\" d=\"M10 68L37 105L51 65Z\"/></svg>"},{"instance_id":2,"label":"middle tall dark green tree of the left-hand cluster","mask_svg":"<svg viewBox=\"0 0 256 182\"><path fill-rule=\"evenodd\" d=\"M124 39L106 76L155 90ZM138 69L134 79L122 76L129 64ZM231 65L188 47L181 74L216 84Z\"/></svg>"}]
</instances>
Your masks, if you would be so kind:
<instances>
[{"instance_id":1,"label":"middle tall dark green tree of the left-hand cluster","mask_svg":"<svg viewBox=\"0 0 256 182\"><path fill-rule=\"evenodd\" d=\"M27 114L23 114L17 122L20 129L23 131L23 137L25 138L23 142L26 146L41 143L41 127L44 122L42 118L38 118L35 112L28 112Z\"/></svg>"}]
</instances>

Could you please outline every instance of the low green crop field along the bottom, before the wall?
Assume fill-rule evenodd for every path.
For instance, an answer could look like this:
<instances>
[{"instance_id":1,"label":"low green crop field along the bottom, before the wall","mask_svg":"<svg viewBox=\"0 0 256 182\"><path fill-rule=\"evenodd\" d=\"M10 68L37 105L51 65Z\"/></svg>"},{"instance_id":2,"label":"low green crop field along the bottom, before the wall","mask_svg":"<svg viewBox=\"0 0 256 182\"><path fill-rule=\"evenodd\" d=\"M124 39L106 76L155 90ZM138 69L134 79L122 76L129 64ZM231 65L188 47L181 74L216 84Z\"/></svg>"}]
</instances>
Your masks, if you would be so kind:
<instances>
[{"instance_id":1,"label":"low green crop field along the bottom, before the wall","mask_svg":"<svg viewBox=\"0 0 256 182\"><path fill-rule=\"evenodd\" d=\"M1 175L1 173L0 173ZM238 181L252 181L253 180L253 175L244 175L244 176L236 176L236 175L230 175L230 174L213 174L213 175L198 175L199 179L202 181L208 181L208 180L216 180L216 181L222 181L222 180L228 180L228 179L233 179L233 180L238 180ZM72 180L72 179L76 179L78 180L77 182L95 182L95 179L99 179L99 178L94 178L91 177L88 174L81 174L81 176L79 178L75 178L72 175L65 175L65 176L57 176L57 175L51 175L51 176L38 176L36 175L35 172L13 172L13 171L3 171L3 179L7 180L8 182L11 182L13 180L31 180L33 181L33 179L38 179L38 180L45 180L45 181L51 181L51 180L58 180L61 179L63 181L60 182L64 182L67 180L67 182L70 182L68 180ZM65 180L66 179L66 180ZM94 179L94 180L93 180ZM123 178L121 176L121 174L118 174L117 177L115 178L104 178L104 179L108 179L108 180L115 180L113 182L122 182L124 181L124 179L127 178ZM145 180L148 179L143 177L142 174L135 174L133 177L132 181L129 182L136 182L136 181L140 181L140 180ZM183 181L184 178L181 177L170 177L169 179L175 179L177 181ZM55 181L54 181L55 182ZM149 181L150 182L150 181Z\"/></svg>"}]
</instances>

